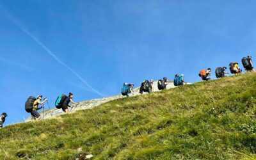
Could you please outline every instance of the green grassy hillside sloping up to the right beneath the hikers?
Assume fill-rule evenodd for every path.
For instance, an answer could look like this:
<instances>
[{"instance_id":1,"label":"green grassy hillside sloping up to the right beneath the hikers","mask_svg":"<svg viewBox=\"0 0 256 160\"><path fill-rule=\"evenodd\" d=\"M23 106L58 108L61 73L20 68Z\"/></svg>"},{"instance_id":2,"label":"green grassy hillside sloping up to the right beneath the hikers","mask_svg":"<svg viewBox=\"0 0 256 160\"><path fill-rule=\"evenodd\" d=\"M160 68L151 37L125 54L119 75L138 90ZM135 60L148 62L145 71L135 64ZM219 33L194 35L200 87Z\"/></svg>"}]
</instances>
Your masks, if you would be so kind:
<instances>
[{"instance_id":1,"label":"green grassy hillside sloping up to the right beneath the hikers","mask_svg":"<svg viewBox=\"0 0 256 160\"><path fill-rule=\"evenodd\" d=\"M256 73L0 130L2 159L253 159Z\"/></svg>"}]
</instances>

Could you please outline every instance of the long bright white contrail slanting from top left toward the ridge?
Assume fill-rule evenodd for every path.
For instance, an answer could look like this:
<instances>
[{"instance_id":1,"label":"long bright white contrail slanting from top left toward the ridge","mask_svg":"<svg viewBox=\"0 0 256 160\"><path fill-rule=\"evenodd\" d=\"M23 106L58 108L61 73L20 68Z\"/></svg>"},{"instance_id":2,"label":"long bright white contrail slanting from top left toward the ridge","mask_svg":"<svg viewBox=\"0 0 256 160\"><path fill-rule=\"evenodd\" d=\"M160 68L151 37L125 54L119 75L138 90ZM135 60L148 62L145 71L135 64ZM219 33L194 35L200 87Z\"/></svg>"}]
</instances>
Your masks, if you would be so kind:
<instances>
[{"instance_id":1,"label":"long bright white contrail slanting from top left toward the ridge","mask_svg":"<svg viewBox=\"0 0 256 160\"><path fill-rule=\"evenodd\" d=\"M1 7L1 4L0 4L0 9L1 8L3 9L3 6ZM28 35L30 38L32 38L38 45L40 45L46 52L48 52L56 61L61 63L61 65L66 67L68 70L70 70L70 72L72 72L72 74L74 74L76 77L78 77L86 86L88 86L88 88L90 88L90 90L92 90L92 92L97 93L101 97L105 97L106 96L106 95L100 93L99 91L95 90L92 86L90 86L90 84L88 84L83 79L83 77L79 76L79 74L77 74L74 70L72 70L72 68L68 67L68 65L66 65L63 61L61 61L55 54L52 53L52 51L48 47L46 47L42 42L40 42L40 40L38 40L34 35L32 35L32 33L30 33L24 26L22 26L20 24L19 20L17 20L17 18L15 18L11 13L9 13L6 10L2 10L2 12L4 12L5 15L7 15L7 17L10 19L11 22L13 22L13 24L15 24L24 33L26 33L26 35Z\"/></svg>"}]
</instances>

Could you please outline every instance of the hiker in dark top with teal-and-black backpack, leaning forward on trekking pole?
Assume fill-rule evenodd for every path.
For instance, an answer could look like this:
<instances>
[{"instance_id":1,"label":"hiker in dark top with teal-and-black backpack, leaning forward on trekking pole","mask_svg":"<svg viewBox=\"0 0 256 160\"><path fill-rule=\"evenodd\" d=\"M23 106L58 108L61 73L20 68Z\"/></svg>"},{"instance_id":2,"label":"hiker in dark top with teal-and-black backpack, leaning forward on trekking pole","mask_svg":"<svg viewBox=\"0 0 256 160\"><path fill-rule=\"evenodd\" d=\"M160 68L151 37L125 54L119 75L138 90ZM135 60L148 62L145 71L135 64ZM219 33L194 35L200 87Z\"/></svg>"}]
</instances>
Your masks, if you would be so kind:
<instances>
[{"instance_id":1,"label":"hiker in dark top with teal-and-black backpack, leaning forward on trekking pole","mask_svg":"<svg viewBox=\"0 0 256 160\"><path fill-rule=\"evenodd\" d=\"M73 108L73 106L70 106L69 103L71 102L72 104L78 105L79 103L74 102L73 99L74 95L73 93L69 93L68 96L65 94L61 94L58 96L55 102L55 106L58 109L62 109L65 113L69 113L68 107ZM70 109L71 111L71 109Z\"/></svg>"}]
</instances>

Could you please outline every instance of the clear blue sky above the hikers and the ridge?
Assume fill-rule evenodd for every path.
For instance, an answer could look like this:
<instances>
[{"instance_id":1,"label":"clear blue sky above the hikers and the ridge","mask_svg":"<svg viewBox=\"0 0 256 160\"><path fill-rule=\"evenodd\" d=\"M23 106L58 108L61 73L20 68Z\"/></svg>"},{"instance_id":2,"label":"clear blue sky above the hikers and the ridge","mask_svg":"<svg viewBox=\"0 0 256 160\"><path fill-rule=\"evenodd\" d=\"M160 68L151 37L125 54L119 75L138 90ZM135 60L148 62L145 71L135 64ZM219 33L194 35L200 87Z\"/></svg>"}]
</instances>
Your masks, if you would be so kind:
<instances>
[{"instance_id":1,"label":"clear blue sky above the hikers and the ridge","mask_svg":"<svg viewBox=\"0 0 256 160\"><path fill-rule=\"evenodd\" d=\"M201 68L255 58L255 8L250 0L0 0L0 112L12 124L28 118L29 95L53 108L60 93L79 102L116 95L124 82L177 73L200 81Z\"/></svg>"}]
</instances>

